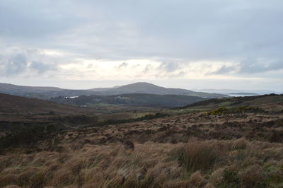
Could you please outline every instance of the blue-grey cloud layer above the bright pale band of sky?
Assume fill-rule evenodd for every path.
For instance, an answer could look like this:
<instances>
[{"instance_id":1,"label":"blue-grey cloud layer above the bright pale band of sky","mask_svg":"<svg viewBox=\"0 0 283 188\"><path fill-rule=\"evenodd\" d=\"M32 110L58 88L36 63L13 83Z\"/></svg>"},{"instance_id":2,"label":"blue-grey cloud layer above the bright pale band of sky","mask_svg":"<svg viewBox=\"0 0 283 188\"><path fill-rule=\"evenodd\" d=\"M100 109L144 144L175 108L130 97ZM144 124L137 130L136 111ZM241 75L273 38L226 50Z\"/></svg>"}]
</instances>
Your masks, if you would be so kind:
<instances>
[{"instance_id":1,"label":"blue-grey cloud layer above the bright pale band of sky","mask_svg":"<svg viewBox=\"0 0 283 188\"><path fill-rule=\"evenodd\" d=\"M168 73L191 61L234 61L235 69L226 64L213 74L270 76L265 73L282 71L282 18L281 0L3 0L0 51L23 47L71 54L54 61L57 65L75 58L158 59ZM29 61L42 62L34 65L40 70L50 64ZM17 62L6 64L8 74L25 69Z\"/></svg>"}]
</instances>

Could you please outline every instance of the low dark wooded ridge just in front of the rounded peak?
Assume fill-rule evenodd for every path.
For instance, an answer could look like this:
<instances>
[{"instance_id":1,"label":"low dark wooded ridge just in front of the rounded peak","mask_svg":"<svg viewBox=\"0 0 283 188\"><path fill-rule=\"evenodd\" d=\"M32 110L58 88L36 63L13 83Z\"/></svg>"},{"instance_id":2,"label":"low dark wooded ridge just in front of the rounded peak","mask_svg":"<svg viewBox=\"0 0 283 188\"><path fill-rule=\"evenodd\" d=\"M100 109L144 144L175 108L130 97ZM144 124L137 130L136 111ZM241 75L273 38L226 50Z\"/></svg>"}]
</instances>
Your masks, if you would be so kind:
<instances>
[{"instance_id":1,"label":"low dark wooded ridge just in front of the rounded peak","mask_svg":"<svg viewBox=\"0 0 283 188\"><path fill-rule=\"evenodd\" d=\"M99 105L101 103L105 105L136 105L147 107L178 107L188 105L193 102L207 100L206 98L200 98L188 95L154 95L146 93L132 93L122 95L91 95L80 96L79 98L52 98L54 102L62 102L70 105Z\"/></svg>"}]
</instances>

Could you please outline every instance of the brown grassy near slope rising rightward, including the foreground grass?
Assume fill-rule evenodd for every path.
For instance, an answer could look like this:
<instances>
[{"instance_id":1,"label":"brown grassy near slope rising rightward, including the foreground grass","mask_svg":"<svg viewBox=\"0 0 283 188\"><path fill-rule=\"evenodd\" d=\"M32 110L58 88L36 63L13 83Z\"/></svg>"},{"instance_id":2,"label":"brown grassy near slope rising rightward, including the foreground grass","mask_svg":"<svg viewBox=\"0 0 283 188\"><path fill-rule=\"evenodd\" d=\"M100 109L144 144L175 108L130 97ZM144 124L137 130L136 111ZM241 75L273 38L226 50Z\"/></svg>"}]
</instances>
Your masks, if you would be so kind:
<instances>
[{"instance_id":1,"label":"brown grassy near slope rising rightward, including the foreground grass","mask_svg":"<svg viewBox=\"0 0 283 188\"><path fill-rule=\"evenodd\" d=\"M246 99L254 106L243 112L16 131L0 141L0 187L282 187L280 98Z\"/></svg>"}]
</instances>

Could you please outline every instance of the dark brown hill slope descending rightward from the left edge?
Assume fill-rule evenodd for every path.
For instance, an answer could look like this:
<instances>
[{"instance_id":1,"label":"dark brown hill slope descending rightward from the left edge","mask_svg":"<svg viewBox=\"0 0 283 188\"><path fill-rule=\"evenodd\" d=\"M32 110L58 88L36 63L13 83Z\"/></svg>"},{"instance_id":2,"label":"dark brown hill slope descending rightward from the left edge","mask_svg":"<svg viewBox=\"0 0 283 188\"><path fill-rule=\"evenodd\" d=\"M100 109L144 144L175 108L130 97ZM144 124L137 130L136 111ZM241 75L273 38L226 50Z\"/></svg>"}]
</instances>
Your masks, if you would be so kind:
<instances>
[{"instance_id":1,"label":"dark brown hill slope descending rightward from the left edge","mask_svg":"<svg viewBox=\"0 0 283 188\"><path fill-rule=\"evenodd\" d=\"M16 95L0 93L0 113L18 114L81 114L93 112L86 107L74 107L71 105L58 104L48 100L24 98Z\"/></svg>"}]
</instances>

